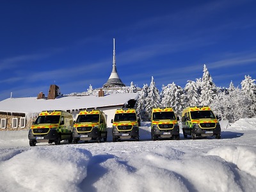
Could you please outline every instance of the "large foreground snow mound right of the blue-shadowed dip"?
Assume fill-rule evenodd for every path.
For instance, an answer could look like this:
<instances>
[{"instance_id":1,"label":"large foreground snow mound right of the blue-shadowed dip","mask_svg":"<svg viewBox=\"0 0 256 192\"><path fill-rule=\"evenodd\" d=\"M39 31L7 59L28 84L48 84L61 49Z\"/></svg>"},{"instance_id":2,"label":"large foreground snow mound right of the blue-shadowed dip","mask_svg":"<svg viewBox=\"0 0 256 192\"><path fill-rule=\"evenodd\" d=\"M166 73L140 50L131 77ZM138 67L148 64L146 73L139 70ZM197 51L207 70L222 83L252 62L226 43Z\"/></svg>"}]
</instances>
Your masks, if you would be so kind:
<instances>
[{"instance_id":1,"label":"large foreground snow mound right of the blue-shadowed dip","mask_svg":"<svg viewBox=\"0 0 256 192\"><path fill-rule=\"evenodd\" d=\"M225 150L225 148L223 149ZM216 156L185 154L171 147L126 154L102 163L108 170L95 184L104 191L253 191L255 177L237 173ZM255 154L254 154L255 155ZM253 156L254 156L253 155ZM243 156L237 156L240 159ZM252 163L252 161L250 161ZM255 166L255 161L254 161ZM240 178L240 179L239 179Z\"/></svg>"}]
</instances>

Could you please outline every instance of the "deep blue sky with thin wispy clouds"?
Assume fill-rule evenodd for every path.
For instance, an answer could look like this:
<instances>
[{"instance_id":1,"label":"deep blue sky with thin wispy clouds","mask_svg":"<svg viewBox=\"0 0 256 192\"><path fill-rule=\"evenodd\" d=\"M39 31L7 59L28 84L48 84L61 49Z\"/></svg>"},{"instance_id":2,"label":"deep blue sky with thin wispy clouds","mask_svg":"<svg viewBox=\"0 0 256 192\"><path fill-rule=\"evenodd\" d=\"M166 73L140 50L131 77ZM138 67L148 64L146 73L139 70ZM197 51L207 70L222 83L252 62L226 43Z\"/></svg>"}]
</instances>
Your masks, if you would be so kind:
<instances>
[{"instance_id":1,"label":"deep blue sky with thin wispy clouds","mask_svg":"<svg viewBox=\"0 0 256 192\"><path fill-rule=\"evenodd\" d=\"M202 77L256 79L255 1L12 1L0 3L0 100L100 88L113 63L127 86ZM241 87L241 86L240 86Z\"/></svg>"}]
</instances>

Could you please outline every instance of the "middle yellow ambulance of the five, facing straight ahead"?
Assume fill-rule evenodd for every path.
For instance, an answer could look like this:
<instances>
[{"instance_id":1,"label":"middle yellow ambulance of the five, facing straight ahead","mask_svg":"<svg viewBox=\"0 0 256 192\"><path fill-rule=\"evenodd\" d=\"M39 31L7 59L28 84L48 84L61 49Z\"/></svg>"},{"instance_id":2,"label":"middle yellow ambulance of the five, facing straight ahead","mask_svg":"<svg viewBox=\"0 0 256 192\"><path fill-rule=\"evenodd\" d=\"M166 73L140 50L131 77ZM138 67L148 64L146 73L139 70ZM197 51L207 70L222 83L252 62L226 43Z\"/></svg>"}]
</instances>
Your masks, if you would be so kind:
<instances>
[{"instance_id":1,"label":"middle yellow ambulance of the five, facing straight ahead","mask_svg":"<svg viewBox=\"0 0 256 192\"><path fill-rule=\"evenodd\" d=\"M111 120L113 141L140 140L140 118L133 108L116 109L115 118Z\"/></svg>"}]
</instances>

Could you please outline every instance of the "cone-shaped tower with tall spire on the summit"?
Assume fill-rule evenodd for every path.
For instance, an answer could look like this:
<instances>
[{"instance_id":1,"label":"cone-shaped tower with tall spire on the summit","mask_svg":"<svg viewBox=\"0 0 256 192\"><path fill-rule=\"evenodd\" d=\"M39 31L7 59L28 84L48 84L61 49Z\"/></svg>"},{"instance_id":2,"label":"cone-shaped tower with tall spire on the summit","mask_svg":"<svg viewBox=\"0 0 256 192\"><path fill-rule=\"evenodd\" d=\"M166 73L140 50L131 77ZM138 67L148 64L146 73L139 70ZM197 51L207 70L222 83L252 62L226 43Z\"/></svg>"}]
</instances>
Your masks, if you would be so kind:
<instances>
[{"instance_id":1,"label":"cone-shaped tower with tall spire on the summit","mask_svg":"<svg viewBox=\"0 0 256 192\"><path fill-rule=\"evenodd\" d=\"M114 49L113 49L113 68L112 72L108 78L107 83L103 85L103 88L118 88L118 87L124 87L125 84L121 81L120 77L117 74L116 71L116 54L115 54L115 38L114 40Z\"/></svg>"}]
</instances>

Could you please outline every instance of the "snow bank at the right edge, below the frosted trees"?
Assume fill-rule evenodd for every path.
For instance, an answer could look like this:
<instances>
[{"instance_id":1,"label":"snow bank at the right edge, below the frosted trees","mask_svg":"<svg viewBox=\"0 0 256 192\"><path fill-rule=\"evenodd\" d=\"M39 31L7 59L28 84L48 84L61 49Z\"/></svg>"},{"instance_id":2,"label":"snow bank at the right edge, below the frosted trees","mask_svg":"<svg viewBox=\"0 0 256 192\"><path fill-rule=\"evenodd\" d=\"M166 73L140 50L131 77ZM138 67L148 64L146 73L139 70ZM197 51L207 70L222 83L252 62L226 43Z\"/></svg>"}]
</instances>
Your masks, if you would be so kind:
<instances>
[{"instance_id":1,"label":"snow bank at the right edge, below the frosted trees","mask_svg":"<svg viewBox=\"0 0 256 192\"><path fill-rule=\"evenodd\" d=\"M241 118L231 124L229 129L234 130L256 130L256 118Z\"/></svg>"}]
</instances>

